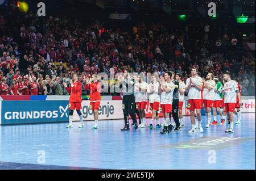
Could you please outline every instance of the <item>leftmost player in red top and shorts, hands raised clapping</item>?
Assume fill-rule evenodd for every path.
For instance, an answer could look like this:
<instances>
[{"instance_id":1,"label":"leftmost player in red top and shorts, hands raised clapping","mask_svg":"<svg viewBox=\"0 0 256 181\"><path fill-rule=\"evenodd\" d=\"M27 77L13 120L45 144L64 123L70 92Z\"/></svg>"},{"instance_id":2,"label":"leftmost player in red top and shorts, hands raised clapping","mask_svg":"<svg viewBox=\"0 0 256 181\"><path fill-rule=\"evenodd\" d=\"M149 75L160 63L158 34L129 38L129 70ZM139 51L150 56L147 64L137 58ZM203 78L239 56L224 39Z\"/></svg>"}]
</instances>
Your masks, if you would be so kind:
<instances>
[{"instance_id":1,"label":"leftmost player in red top and shorts, hands raised clapping","mask_svg":"<svg viewBox=\"0 0 256 181\"><path fill-rule=\"evenodd\" d=\"M70 86L67 86L66 82L63 82L63 85L65 86L65 89L70 94L69 97L69 124L66 128L73 128L72 121L73 121L73 112L76 109L77 114L80 118L80 125L79 128L84 127L84 123L82 121L82 83L78 80L77 74L73 74L73 77L70 81Z\"/></svg>"}]
</instances>

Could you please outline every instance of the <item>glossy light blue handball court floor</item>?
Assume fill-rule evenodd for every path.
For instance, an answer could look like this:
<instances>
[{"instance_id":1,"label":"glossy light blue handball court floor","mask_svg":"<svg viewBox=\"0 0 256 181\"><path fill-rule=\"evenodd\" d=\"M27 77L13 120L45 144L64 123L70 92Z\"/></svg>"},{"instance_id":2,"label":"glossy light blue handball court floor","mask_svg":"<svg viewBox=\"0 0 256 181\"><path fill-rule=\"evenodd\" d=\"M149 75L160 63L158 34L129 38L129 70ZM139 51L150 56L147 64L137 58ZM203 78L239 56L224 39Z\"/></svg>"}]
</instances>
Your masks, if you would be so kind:
<instances>
[{"instance_id":1,"label":"glossy light blue handball court floor","mask_svg":"<svg viewBox=\"0 0 256 181\"><path fill-rule=\"evenodd\" d=\"M255 114L243 113L234 133L212 125L204 133L160 134L160 129L131 127L123 120L99 121L99 129L73 123L0 126L0 169L255 169ZM150 123L150 119L147 119ZM162 123L162 119L161 119Z\"/></svg>"}]
</instances>

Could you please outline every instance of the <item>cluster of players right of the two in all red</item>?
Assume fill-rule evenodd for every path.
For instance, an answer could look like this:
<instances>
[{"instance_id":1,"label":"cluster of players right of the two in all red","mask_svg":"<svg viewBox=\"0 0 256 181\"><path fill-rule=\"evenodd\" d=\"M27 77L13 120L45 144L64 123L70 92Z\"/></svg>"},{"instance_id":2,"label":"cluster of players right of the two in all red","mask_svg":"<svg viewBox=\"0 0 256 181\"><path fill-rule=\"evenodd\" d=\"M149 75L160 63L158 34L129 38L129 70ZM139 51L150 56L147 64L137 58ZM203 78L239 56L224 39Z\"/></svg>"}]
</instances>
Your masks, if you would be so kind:
<instances>
[{"instance_id":1,"label":"cluster of players right of the two in all red","mask_svg":"<svg viewBox=\"0 0 256 181\"><path fill-rule=\"evenodd\" d=\"M218 77L214 76L213 73L208 73L206 78L201 78L197 68L193 68L191 77L185 80L181 74L177 73L175 75L172 71L164 73L163 76L152 74L149 84L144 82L143 75L131 77L129 75L130 71L126 73L127 71L129 70L125 71L125 77L118 77L118 81L134 84L134 97L133 95L129 95L129 99L126 98L128 95L123 97L125 127L121 129L122 131L129 131L130 129L127 113L133 119L132 125L134 125L135 129L146 127L145 109L148 98L152 111L152 119L148 127L150 129L154 128L153 124L156 121L155 129L163 127L160 132L162 134L168 134L173 130L180 131L180 128L185 127L182 116L185 92L188 92L188 108L192 124L192 129L188 133L195 133L197 129L200 132L204 131L201 125L201 109L203 107L206 115L206 128L210 128L212 124L218 124L217 111L221 117L221 125L224 125L226 116L228 117L229 128L225 132L234 132L234 114L238 117L236 124L241 123L241 88L238 84L238 79L235 78L235 81L233 81L228 72L223 75L222 85ZM134 111L139 117L138 126L135 113L132 110L133 99L135 104ZM162 125L159 121L158 111L162 112L164 117ZM173 123L171 123L171 116L174 118Z\"/></svg>"}]
</instances>

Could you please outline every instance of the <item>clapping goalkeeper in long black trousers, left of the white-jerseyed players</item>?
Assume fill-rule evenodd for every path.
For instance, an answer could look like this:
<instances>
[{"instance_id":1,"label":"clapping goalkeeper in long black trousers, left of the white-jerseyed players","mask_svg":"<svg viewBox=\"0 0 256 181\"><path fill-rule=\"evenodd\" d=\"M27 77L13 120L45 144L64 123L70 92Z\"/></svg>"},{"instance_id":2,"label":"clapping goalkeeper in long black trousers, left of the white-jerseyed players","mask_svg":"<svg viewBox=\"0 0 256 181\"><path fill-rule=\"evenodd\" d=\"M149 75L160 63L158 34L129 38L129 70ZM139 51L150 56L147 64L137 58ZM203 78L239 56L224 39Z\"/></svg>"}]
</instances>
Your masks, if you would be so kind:
<instances>
[{"instance_id":1,"label":"clapping goalkeeper in long black trousers, left of the white-jerseyed players","mask_svg":"<svg viewBox=\"0 0 256 181\"><path fill-rule=\"evenodd\" d=\"M137 119L135 116L135 96L134 96L134 84L135 80L130 75L131 70L126 69L124 72L124 77L121 75L118 77L119 89L123 91L123 100L122 100L122 108L123 108L123 117L125 119L125 127L121 129L121 131L129 131L130 123L129 123L129 115L131 119L133 119L134 128L138 129Z\"/></svg>"}]
</instances>

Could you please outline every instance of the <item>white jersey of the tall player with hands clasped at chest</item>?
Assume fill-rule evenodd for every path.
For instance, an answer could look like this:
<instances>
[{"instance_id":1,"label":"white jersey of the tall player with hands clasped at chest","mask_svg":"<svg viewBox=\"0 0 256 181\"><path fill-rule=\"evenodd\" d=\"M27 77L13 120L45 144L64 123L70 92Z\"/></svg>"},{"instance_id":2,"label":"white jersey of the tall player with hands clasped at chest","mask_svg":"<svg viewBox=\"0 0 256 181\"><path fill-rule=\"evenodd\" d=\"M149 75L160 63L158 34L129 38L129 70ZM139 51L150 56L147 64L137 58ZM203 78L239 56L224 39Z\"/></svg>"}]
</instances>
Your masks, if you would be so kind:
<instances>
[{"instance_id":1,"label":"white jersey of the tall player with hands clasped at chest","mask_svg":"<svg viewBox=\"0 0 256 181\"><path fill-rule=\"evenodd\" d=\"M196 85L203 86L203 79L201 77L194 77L192 81L195 82ZM187 85L190 83L190 78L187 79ZM191 84L188 90L188 99L201 99L201 90L197 89L195 85Z\"/></svg>"}]
</instances>

